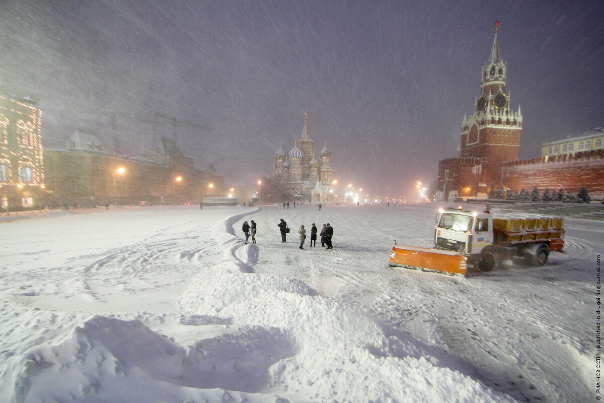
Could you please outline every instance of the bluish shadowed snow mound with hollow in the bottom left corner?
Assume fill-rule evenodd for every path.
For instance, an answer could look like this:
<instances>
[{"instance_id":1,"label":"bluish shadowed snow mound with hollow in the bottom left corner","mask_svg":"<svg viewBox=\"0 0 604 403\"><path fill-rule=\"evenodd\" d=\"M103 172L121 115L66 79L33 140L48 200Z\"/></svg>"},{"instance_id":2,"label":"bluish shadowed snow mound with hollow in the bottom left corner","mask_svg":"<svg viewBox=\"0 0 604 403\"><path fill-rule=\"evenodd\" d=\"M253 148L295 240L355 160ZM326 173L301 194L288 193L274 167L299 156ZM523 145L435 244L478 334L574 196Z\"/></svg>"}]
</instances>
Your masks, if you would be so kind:
<instances>
[{"instance_id":1,"label":"bluish shadowed snow mound with hollow in the bottom left corner","mask_svg":"<svg viewBox=\"0 0 604 403\"><path fill-rule=\"evenodd\" d=\"M291 345L277 329L252 328L235 340L219 337L186 348L139 320L97 315L59 344L36 346L11 358L0 374L0 400L286 402L274 395L225 390L226 386L256 392L266 384L262 367L268 368L271 360L249 353L254 344L266 341L271 343L272 359L291 353ZM242 349L248 353L242 354Z\"/></svg>"}]
</instances>

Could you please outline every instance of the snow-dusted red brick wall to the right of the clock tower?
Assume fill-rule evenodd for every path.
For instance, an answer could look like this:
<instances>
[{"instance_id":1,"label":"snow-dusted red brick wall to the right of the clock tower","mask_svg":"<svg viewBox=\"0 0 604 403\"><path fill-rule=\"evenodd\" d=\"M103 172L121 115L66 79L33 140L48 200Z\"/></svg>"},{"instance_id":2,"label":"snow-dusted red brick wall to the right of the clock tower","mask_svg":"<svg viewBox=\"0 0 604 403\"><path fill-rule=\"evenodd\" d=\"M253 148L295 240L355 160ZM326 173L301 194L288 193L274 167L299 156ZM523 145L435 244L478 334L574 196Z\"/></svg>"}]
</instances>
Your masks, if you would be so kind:
<instances>
[{"instance_id":1,"label":"snow-dusted red brick wall to the right of the clock tower","mask_svg":"<svg viewBox=\"0 0 604 403\"><path fill-rule=\"evenodd\" d=\"M512 191L537 186L541 193L546 187L577 193L585 186L592 199L604 198L604 149L506 161L501 169L503 184Z\"/></svg>"}]
</instances>

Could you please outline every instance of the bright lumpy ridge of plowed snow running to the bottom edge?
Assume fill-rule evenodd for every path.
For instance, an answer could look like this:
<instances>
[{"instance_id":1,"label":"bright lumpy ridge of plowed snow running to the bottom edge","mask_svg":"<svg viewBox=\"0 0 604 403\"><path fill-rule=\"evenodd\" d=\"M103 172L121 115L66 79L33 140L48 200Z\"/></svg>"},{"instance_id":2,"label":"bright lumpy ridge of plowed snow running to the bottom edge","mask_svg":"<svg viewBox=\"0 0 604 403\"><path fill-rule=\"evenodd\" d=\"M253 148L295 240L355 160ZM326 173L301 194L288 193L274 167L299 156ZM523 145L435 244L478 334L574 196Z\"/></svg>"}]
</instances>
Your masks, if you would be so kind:
<instances>
[{"instance_id":1,"label":"bright lumpy ridge of plowed snow running to the bottom edge","mask_svg":"<svg viewBox=\"0 0 604 403\"><path fill-rule=\"evenodd\" d=\"M295 346L268 369L265 392L289 399L339 402L510 402L475 379L443 366L450 356L383 329L370 314L321 297L295 279L270 274L202 272L179 305L192 314L280 329ZM342 340L341 335L350 335ZM283 392L281 392L283 395Z\"/></svg>"}]
</instances>

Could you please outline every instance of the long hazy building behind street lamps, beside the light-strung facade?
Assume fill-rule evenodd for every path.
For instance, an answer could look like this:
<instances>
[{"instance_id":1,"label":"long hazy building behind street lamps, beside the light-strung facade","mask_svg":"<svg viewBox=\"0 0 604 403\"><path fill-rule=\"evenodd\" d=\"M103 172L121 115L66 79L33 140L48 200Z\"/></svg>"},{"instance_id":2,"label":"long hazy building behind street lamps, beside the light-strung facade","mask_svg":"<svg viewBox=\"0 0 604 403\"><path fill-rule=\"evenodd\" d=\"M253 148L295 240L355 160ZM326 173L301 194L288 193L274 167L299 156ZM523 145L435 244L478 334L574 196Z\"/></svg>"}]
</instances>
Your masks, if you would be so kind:
<instances>
[{"instance_id":1,"label":"long hazy building behind street lamps, beside the light-strung facade","mask_svg":"<svg viewBox=\"0 0 604 403\"><path fill-rule=\"evenodd\" d=\"M155 152L135 158L109 153L92 132L76 131L63 150L47 150L47 188L63 207L198 203L225 196L224 178L194 168L176 143L161 137Z\"/></svg>"}]
</instances>

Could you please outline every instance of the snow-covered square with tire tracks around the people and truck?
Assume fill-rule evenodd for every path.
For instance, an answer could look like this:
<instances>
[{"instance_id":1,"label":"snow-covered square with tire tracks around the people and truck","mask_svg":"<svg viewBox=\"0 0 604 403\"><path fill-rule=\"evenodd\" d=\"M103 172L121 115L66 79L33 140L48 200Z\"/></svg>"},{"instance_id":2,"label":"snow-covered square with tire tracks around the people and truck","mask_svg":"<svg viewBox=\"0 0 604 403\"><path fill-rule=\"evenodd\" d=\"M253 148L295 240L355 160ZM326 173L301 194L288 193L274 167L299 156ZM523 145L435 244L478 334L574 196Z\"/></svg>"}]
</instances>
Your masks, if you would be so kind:
<instances>
[{"instance_id":1,"label":"snow-covered square with tire tracks around the people and truck","mask_svg":"<svg viewBox=\"0 0 604 403\"><path fill-rule=\"evenodd\" d=\"M541 268L462 278L388 267L394 239L432 244L436 208L0 222L0 401L591 401L603 225L567 220L568 253ZM257 245L243 243L250 219ZM312 222L332 224L333 250L298 249L297 228Z\"/></svg>"}]
</instances>

